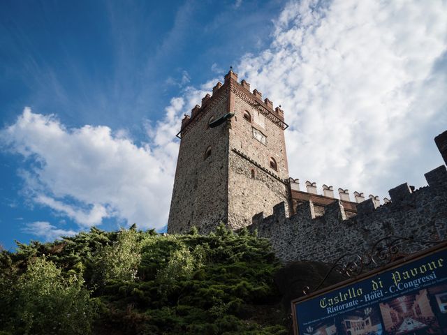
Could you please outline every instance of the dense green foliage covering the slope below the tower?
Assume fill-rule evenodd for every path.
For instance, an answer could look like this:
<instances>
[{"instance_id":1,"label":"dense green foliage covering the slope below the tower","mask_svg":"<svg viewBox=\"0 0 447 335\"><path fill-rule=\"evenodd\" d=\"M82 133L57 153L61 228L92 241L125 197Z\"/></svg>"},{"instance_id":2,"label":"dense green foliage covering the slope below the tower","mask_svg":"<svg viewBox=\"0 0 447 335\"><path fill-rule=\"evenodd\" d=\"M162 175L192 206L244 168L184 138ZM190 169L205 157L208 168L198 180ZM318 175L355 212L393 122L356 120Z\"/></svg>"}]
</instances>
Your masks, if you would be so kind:
<instances>
[{"instance_id":1,"label":"dense green foliage covering the slope below the tower","mask_svg":"<svg viewBox=\"0 0 447 335\"><path fill-rule=\"evenodd\" d=\"M287 334L265 239L119 232L0 252L0 334Z\"/></svg>"}]
</instances>

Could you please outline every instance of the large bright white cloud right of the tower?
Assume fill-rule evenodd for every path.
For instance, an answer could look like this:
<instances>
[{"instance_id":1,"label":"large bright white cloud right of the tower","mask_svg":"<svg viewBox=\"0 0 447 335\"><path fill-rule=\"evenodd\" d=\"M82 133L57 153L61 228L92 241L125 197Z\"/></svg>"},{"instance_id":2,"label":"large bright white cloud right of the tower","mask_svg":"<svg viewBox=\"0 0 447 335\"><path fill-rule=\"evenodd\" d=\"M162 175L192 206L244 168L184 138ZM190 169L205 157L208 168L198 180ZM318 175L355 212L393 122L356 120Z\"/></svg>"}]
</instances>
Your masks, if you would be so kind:
<instances>
[{"instance_id":1,"label":"large bright white cloud right of the tower","mask_svg":"<svg viewBox=\"0 0 447 335\"><path fill-rule=\"evenodd\" d=\"M380 195L424 184L447 121L446 17L446 1L288 3L272 45L237 68L282 104L293 177Z\"/></svg>"}]
</instances>

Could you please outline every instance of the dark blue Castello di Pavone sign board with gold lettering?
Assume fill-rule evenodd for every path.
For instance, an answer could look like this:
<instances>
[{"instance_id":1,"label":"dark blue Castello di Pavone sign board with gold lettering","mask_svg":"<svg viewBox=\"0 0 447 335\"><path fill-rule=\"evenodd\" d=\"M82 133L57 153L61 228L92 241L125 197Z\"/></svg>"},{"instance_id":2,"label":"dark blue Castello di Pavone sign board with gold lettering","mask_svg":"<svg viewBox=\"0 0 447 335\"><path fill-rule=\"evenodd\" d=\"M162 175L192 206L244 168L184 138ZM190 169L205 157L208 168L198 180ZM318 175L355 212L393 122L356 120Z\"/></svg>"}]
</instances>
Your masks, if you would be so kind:
<instances>
[{"instance_id":1,"label":"dark blue Castello di Pavone sign board with gold lettering","mask_svg":"<svg viewBox=\"0 0 447 335\"><path fill-rule=\"evenodd\" d=\"M447 245L292 301L299 335L447 334Z\"/></svg>"}]
</instances>

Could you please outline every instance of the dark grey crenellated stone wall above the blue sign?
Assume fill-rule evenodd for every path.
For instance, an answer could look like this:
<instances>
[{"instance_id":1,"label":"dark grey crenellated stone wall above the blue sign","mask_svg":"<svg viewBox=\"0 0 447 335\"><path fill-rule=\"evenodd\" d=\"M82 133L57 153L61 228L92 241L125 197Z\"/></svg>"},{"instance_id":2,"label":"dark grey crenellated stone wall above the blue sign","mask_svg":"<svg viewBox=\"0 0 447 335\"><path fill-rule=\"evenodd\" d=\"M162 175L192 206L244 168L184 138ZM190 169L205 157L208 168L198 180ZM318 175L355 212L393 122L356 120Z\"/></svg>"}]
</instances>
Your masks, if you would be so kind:
<instances>
[{"instance_id":1,"label":"dark grey crenellated stone wall above the blue sign","mask_svg":"<svg viewBox=\"0 0 447 335\"><path fill-rule=\"evenodd\" d=\"M376 241L391 235L441 241L447 238L446 167L428 172L425 179L428 186L413 192L408 184L391 189L391 202L378 208L372 199L361 202L358 214L347 219L339 200L328 204L320 217L315 216L312 201L298 206L290 218L280 203L271 216L254 216L249 230L269 238L283 261L334 262L344 253L365 254Z\"/></svg>"}]
</instances>

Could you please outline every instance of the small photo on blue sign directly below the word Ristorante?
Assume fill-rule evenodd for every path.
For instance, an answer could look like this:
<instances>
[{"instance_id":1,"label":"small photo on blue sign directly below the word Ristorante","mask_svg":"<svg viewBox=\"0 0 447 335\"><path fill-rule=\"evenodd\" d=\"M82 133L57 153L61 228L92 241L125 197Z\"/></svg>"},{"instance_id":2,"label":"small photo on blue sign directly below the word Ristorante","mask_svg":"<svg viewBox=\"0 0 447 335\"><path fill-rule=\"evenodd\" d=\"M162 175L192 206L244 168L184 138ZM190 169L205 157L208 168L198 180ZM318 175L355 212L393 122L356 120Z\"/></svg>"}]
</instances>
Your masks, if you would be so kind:
<instances>
[{"instance_id":1,"label":"small photo on blue sign directly below the word Ristorante","mask_svg":"<svg viewBox=\"0 0 447 335\"><path fill-rule=\"evenodd\" d=\"M367 306L357 311L338 315L335 320L339 334L381 335L383 327L379 314L379 309L376 306Z\"/></svg>"}]
</instances>

